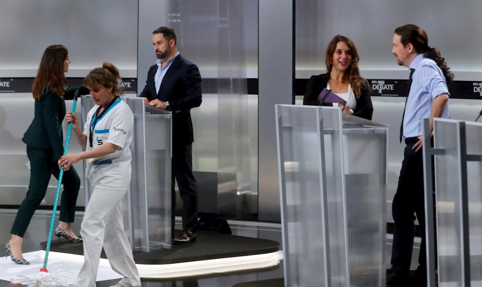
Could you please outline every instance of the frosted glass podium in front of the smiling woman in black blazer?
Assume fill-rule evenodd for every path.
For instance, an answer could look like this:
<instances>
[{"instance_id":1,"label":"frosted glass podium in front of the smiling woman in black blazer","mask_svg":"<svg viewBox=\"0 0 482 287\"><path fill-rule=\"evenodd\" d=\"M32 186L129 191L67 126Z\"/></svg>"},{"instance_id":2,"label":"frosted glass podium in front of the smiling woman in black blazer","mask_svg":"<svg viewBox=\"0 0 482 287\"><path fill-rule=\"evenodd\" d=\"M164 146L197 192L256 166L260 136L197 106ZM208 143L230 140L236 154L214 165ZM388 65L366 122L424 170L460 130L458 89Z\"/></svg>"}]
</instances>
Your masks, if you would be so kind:
<instances>
[{"instance_id":1,"label":"frosted glass podium in front of the smiling woman in black blazer","mask_svg":"<svg viewBox=\"0 0 482 287\"><path fill-rule=\"evenodd\" d=\"M276 105L285 286L385 286L387 127Z\"/></svg>"}]
</instances>

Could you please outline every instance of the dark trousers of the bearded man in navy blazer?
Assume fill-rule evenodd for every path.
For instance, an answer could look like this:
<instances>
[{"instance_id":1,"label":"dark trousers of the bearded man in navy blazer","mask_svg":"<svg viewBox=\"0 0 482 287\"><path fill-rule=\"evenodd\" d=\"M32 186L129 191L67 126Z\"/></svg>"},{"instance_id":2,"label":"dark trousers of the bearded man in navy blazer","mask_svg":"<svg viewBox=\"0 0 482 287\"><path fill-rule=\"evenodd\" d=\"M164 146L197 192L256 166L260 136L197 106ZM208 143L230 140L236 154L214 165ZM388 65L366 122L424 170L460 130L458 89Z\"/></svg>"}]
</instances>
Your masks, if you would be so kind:
<instances>
[{"instance_id":1,"label":"dark trousers of the bearded man in navy blazer","mask_svg":"<svg viewBox=\"0 0 482 287\"><path fill-rule=\"evenodd\" d=\"M198 194L196 180L192 174L192 144L172 145L172 232L174 232L174 212L176 210L174 179L177 181L183 201L183 227L185 230L196 231Z\"/></svg>"}]
</instances>

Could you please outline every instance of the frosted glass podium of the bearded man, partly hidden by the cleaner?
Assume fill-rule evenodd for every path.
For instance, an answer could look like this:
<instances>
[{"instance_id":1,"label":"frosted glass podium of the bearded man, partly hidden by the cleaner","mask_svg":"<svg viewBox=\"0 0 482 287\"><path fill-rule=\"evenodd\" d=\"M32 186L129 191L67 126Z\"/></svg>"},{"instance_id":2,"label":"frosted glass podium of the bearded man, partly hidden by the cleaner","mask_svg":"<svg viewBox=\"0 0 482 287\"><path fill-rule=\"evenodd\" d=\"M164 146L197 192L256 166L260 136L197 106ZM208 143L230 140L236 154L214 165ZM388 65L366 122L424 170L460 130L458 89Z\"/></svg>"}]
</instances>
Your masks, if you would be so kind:
<instances>
[{"instance_id":1,"label":"frosted glass podium of the bearded man, partly hidden by the cleaner","mask_svg":"<svg viewBox=\"0 0 482 287\"><path fill-rule=\"evenodd\" d=\"M122 100L134 115L130 144L132 179L123 200L124 230L132 251L170 248L172 115L146 105L142 98L123 97ZM81 105L83 126L95 103L90 96L82 96ZM84 176L84 187L87 206L92 193L87 176Z\"/></svg>"}]
</instances>

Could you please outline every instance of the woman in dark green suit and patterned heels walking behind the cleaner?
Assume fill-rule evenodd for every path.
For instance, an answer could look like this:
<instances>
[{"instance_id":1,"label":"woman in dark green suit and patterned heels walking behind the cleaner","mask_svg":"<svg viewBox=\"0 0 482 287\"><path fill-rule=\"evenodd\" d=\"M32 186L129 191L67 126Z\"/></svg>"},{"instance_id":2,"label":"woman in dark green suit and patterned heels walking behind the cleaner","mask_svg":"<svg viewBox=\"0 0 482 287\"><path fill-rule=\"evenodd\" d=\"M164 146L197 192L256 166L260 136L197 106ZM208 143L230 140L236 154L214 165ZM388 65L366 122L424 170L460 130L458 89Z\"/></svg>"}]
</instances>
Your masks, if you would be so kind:
<instances>
[{"instance_id":1,"label":"woman in dark green suit and patterned heels walking behind the cleaner","mask_svg":"<svg viewBox=\"0 0 482 287\"><path fill-rule=\"evenodd\" d=\"M5 244L7 254L17 264L30 264L22 255L23 236L35 210L45 197L52 174L58 180L58 160L64 152L62 121L66 113L65 99L72 100L77 90L81 95L89 94L89 90L84 86L67 88L64 73L69 70L69 64L68 51L64 46L47 47L32 85L35 116L22 138L27 144L27 156L30 160L30 183L10 231L12 238ZM82 242L70 227L71 222L74 222L75 204L80 188L80 178L73 167L64 171L63 185L60 221L55 235L63 236L70 242Z\"/></svg>"}]
</instances>

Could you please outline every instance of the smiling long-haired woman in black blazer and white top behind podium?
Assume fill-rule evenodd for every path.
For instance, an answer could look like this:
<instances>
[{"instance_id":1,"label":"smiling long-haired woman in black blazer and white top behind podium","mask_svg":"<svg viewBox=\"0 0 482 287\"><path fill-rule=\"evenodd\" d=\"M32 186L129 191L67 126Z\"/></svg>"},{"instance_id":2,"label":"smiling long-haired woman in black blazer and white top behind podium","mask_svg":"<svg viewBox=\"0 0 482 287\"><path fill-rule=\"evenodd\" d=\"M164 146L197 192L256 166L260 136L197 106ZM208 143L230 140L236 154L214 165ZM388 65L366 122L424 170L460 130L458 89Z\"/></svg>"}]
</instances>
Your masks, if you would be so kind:
<instances>
[{"instance_id":1,"label":"smiling long-haired woman in black blazer and white top behind podium","mask_svg":"<svg viewBox=\"0 0 482 287\"><path fill-rule=\"evenodd\" d=\"M303 104L333 106L332 103L321 103L318 95L324 88L331 89L346 101L345 105L337 104L343 113L371 120L373 105L368 81L360 76L356 47L349 38L336 35L326 49L326 74L311 76L306 85Z\"/></svg>"}]
</instances>

